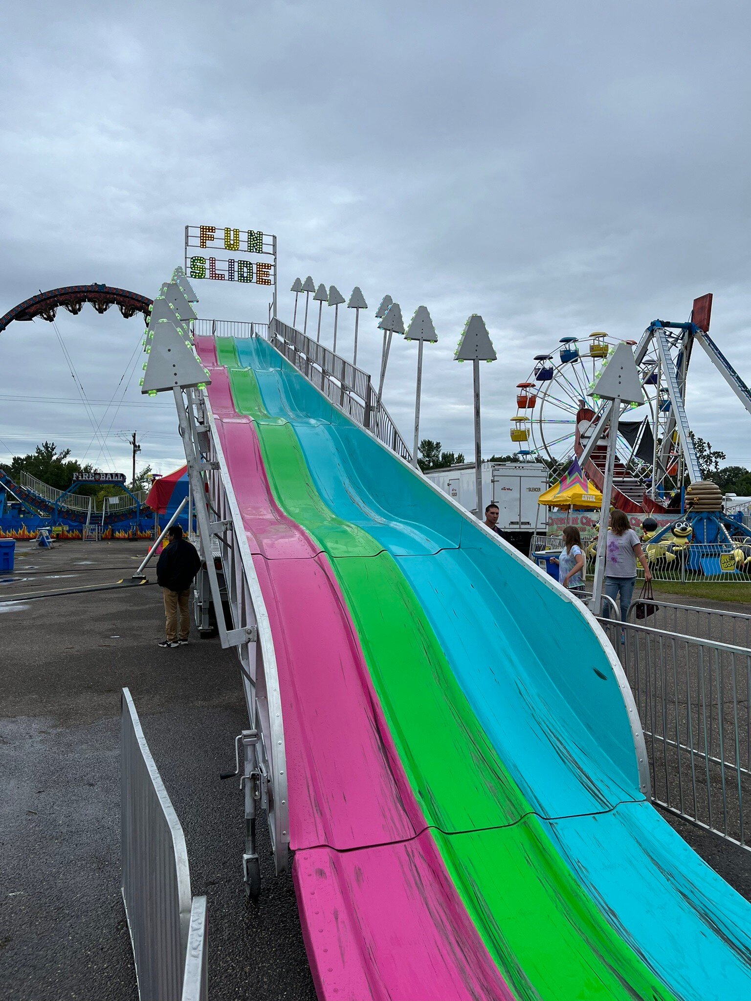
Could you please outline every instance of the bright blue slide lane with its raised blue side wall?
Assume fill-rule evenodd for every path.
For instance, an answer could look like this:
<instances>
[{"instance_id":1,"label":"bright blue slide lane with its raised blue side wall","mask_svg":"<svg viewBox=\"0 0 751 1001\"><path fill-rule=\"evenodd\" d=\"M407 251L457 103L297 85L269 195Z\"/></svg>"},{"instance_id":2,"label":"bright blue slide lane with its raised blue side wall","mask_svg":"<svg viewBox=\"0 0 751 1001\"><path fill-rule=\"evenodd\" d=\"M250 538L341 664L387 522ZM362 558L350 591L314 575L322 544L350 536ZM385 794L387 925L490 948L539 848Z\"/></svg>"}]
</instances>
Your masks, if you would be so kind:
<instances>
[{"instance_id":1,"label":"bright blue slide lane with its raised blue side wall","mask_svg":"<svg viewBox=\"0 0 751 1001\"><path fill-rule=\"evenodd\" d=\"M494 747L607 920L679 997L751 997L751 907L645 802L610 660L581 613L266 341L238 340L237 352L268 412L294 427L326 505L399 562Z\"/></svg>"}]
</instances>

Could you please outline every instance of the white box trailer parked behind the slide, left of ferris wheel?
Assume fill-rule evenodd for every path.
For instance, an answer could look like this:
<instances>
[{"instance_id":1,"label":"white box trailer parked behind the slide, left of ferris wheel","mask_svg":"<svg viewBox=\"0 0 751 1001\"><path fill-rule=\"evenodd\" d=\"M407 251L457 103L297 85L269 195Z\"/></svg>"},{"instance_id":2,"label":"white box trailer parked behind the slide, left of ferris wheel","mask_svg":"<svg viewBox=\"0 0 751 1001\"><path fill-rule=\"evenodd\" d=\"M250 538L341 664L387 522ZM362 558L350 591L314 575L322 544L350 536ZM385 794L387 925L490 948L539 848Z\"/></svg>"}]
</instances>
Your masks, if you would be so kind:
<instances>
[{"instance_id":1,"label":"white box trailer parked behind the slide, left of ferris wheel","mask_svg":"<svg viewBox=\"0 0 751 1001\"><path fill-rule=\"evenodd\" d=\"M463 508L482 519L489 504L500 509L498 527L507 542L529 556L534 535L544 536L548 509L537 500L548 488L548 468L542 462L483 462L483 511L477 512L475 463L429 469L426 476Z\"/></svg>"}]
</instances>

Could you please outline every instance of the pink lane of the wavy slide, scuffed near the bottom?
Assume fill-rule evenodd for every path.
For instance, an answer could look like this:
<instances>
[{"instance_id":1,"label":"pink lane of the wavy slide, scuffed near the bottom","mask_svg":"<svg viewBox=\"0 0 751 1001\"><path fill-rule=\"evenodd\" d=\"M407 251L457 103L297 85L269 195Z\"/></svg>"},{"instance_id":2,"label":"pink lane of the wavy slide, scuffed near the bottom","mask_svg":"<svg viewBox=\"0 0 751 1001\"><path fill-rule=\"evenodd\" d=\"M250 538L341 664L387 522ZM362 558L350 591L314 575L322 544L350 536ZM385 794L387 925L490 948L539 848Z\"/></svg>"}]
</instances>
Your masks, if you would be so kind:
<instances>
[{"instance_id":1,"label":"pink lane of the wavy slide, scuffed near the bottom","mask_svg":"<svg viewBox=\"0 0 751 1001\"><path fill-rule=\"evenodd\" d=\"M318 996L511 1001L425 831L328 562L274 504L213 340L198 338L198 351L274 641L294 885Z\"/></svg>"}]
</instances>

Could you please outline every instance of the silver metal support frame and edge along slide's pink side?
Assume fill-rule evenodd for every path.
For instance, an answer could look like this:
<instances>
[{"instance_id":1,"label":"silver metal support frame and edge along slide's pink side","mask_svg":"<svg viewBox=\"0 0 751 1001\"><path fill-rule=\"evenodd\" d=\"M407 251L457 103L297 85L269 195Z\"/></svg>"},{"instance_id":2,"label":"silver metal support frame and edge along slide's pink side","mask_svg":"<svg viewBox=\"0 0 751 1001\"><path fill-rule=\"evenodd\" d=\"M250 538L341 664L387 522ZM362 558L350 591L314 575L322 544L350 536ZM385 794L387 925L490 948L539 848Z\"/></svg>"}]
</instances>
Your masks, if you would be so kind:
<instances>
[{"instance_id":1,"label":"silver metal support frame and edge along slide's pink side","mask_svg":"<svg viewBox=\"0 0 751 1001\"><path fill-rule=\"evenodd\" d=\"M253 567L213 414L204 392L173 390L185 450L201 560L223 648L240 661L248 729L235 740L235 771L245 798L242 876L249 896L260 889L256 814L265 811L276 873L289 867L289 807L284 727L276 656L268 615ZM214 556L218 549L218 557ZM225 587L222 588L215 563ZM224 606L231 622L225 622Z\"/></svg>"}]
</instances>

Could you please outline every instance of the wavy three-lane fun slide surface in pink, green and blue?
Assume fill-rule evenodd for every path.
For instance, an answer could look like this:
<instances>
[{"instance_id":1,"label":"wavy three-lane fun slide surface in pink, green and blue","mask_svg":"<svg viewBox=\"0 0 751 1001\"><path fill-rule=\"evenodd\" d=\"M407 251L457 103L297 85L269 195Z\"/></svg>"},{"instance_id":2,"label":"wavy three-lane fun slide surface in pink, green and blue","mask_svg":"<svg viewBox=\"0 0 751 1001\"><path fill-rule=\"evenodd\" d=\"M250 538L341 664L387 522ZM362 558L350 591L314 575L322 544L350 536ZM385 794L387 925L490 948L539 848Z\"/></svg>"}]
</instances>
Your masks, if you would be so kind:
<instances>
[{"instance_id":1,"label":"wavy three-lane fun slide surface in pink, green and blue","mask_svg":"<svg viewBox=\"0 0 751 1001\"><path fill-rule=\"evenodd\" d=\"M651 806L589 612L267 341L196 348L270 617L321 1001L751 997L751 907Z\"/></svg>"}]
</instances>

